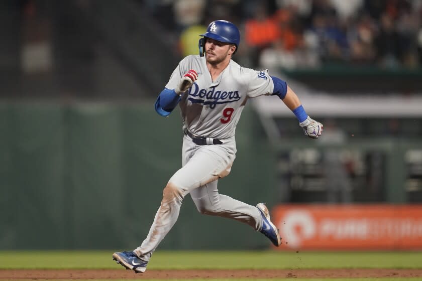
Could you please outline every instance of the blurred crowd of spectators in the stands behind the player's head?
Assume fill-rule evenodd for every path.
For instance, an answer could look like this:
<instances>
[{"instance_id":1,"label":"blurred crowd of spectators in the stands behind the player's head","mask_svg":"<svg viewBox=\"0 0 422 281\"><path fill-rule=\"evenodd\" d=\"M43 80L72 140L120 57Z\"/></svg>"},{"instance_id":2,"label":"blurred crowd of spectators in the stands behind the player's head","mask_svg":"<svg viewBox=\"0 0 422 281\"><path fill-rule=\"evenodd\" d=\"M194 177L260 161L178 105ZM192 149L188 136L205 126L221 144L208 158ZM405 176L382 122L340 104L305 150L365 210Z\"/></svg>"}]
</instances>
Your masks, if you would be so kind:
<instances>
[{"instance_id":1,"label":"blurred crowd of spectators in the stands behind the player's head","mask_svg":"<svg viewBox=\"0 0 422 281\"><path fill-rule=\"evenodd\" d=\"M161 12L172 6L184 55L196 53L184 46L196 45L188 41L196 41L201 24L225 19L241 28L243 47L235 59L250 67L317 68L346 62L414 68L422 63L422 0L147 2Z\"/></svg>"}]
</instances>

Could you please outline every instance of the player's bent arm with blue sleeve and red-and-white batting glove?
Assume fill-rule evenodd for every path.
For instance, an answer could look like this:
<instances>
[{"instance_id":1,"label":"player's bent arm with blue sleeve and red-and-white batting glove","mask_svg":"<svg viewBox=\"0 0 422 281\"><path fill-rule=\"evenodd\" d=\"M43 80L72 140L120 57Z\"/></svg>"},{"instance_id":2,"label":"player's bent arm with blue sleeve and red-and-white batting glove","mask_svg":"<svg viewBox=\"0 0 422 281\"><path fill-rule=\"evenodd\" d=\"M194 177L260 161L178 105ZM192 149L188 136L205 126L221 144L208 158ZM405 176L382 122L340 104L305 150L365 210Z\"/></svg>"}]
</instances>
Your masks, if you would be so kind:
<instances>
[{"instance_id":1,"label":"player's bent arm with blue sleeve and red-and-white batting glove","mask_svg":"<svg viewBox=\"0 0 422 281\"><path fill-rule=\"evenodd\" d=\"M198 74L195 70L190 69L180 79L178 85L174 89L164 88L155 102L155 111L161 116L170 115L171 111L180 102L181 95L186 92L196 81Z\"/></svg>"}]
</instances>

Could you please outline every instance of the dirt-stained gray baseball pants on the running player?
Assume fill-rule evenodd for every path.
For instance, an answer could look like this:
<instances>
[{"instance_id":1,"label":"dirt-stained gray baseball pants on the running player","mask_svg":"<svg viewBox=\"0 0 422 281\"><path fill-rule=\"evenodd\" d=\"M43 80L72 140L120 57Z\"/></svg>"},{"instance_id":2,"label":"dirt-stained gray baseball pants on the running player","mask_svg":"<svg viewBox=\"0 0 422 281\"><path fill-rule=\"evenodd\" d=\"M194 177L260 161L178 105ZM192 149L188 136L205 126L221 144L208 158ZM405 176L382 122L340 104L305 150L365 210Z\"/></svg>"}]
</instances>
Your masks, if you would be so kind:
<instances>
[{"instance_id":1,"label":"dirt-stained gray baseball pants on the running player","mask_svg":"<svg viewBox=\"0 0 422 281\"><path fill-rule=\"evenodd\" d=\"M198 146L185 135L182 158L183 167L163 190L163 200L147 238L134 250L143 260L149 261L175 224L183 198L188 193L201 214L232 218L255 230L262 227L261 214L255 206L219 194L217 188L218 179L230 173L236 158L235 137L225 139L223 145Z\"/></svg>"}]
</instances>

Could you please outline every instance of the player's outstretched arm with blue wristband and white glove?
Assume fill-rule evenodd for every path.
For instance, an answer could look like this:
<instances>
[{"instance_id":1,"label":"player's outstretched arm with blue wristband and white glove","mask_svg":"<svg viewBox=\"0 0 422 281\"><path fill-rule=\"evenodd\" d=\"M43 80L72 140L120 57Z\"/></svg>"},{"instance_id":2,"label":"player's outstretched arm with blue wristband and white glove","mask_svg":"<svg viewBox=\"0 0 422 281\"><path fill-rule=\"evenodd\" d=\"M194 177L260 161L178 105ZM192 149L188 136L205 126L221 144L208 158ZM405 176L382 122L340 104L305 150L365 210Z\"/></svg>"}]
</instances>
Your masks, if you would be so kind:
<instances>
[{"instance_id":1,"label":"player's outstretched arm with blue wristband and white glove","mask_svg":"<svg viewBox=\"0 0 422 281\"><path fill-rule=\"evenodd\" d=\"M277 95L284 104L294 113L299 126L302 127L305 135L311 138L318 138L323 132L323 124L310 118L303 108L299 98L294 91L287 86L287 83L280 78L270 76L274 83L273 95Z\"/></svg>"}]
</instances>

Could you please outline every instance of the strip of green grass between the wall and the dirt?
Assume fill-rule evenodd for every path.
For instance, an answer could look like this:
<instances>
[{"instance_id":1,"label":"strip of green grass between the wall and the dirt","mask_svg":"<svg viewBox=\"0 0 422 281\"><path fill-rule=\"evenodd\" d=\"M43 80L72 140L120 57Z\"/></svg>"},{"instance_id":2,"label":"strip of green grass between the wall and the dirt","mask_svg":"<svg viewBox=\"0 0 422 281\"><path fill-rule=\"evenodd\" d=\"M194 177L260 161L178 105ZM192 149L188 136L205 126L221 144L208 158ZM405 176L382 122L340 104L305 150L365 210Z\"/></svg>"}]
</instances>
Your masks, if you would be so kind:
<instances>
[{"instance_id":1,"label":"strip of green grass between the wall and the dirt","mask_svg":"<svg viewBox=\"0 0 422 281\"><path fill-rule=\"evenodd\" d=\"M0 251L0 269L118 268L113 252ZM148 269L214 268L422 268L422 252L157 251L148 264Z\"/></svg>"}]
</instances>

